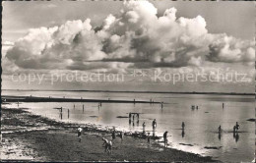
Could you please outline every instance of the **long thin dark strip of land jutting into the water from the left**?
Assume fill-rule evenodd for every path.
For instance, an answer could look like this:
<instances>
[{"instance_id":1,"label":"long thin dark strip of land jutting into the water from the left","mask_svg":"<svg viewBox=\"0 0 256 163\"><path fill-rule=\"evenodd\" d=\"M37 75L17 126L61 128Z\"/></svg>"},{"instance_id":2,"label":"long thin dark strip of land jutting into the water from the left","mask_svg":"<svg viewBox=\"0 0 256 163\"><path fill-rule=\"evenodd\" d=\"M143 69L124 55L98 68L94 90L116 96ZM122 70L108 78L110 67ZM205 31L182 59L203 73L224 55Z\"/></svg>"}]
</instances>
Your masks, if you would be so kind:
<instances>
[{"instance_id":1,"label":"long thin dark strip of land jutting into the water from the left","mask_svg":"<svg viewBox=\"0 0 256 163\"><path fill-rule=\"evenodd\" d=\"M5 102L101 102L101 103L153 103L161 102L142 101L142 100L114 100L114 99L83 99L83 98L55 98L55 97L35 97L35 96L13 96L2 95Z\"/></svg>"}]
</instances>

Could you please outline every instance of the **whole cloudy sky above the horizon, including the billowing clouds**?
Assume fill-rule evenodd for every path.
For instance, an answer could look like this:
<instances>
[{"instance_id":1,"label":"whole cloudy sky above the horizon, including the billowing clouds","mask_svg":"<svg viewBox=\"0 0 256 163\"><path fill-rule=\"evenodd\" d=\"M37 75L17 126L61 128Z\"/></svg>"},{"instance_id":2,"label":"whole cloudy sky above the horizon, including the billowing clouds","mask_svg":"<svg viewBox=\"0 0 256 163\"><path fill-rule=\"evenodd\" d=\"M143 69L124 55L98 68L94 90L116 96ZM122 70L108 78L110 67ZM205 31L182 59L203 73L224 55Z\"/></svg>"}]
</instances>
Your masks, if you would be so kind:
<instances>
[{"instance_id":1,"label":"whole cloudy sky above the horizon, including the billowing clouds","mask_svg":"<svg viewBox=\"0 0 256 163\"><path fill-rule=\"evenodd\" d=\"M3 2L3 88L86 89L90 85L92 89L252 91L254 18L254 3L247 1ZM66 77L79 72L81 77L99 71L124 74L125 81L119 86L111 81L89 84L66 79L54 85L47 81L52 74ZM175 73L204 72L220 79L220 71L239 72L246 80L213 83L179 77L180 82L173 84ZM47 80L38 85L38 79L28 83L12 78L23 73L27 78L45 74ZM156 81L159 74L161 80Z\"/></svg>"}]
</instances>

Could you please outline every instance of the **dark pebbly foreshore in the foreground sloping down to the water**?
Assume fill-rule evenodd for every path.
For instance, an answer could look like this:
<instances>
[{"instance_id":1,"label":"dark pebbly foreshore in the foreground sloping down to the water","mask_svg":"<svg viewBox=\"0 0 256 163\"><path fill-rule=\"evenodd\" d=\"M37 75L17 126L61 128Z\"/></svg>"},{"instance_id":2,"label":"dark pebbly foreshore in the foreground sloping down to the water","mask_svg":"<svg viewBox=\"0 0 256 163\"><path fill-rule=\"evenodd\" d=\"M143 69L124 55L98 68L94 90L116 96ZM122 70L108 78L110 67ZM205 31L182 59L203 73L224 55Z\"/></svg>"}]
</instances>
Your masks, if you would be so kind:
<instances>
[{"instance_id":1,"label":"dark pebbly foreshore in the foreground sloping down to the water","mask_svg":"<svg viewBox=\"0 0 256 163\"><path fill-rule=\"evenodd\" d=\"M117 136L113 140L112 154L104 153L102 137L110 133L94 126L84 126L82 141L77 137L77 124L64 124L32 115L22 109L2 109L1 161L29 159L32 161L155 161L155 162L217 162L211 157L164 148L156 141ZM29 131L47 128L46 131ZM23 132L19 131L23 128ZM16 131L14 130L16 129ZM5 132L14 132L5 134ZM7 159L7 160L6 160Z\"/></svg>"}]
</instances>

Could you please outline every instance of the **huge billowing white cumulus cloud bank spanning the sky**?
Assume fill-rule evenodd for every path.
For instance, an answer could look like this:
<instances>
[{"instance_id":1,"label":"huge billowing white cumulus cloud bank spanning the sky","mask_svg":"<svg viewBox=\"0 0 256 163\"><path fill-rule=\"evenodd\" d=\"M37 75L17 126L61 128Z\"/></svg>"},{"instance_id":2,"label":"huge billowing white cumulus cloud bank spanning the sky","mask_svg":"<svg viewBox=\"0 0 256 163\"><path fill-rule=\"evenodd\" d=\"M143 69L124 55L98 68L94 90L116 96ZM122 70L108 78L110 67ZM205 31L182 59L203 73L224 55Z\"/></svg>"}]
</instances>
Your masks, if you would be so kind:
<instances>
[{"instance_id":1,"label":"huge billowing white cumulus cloud bank spanning the sky","mask_svg":"<svg viewBox=\"0 0 256 163\"><path fill-rule=\"evenodd\" d=\"M255 62L253 40L209 33L204 18L176 18L176 9L148 1L125 1L98 27L91 20L32 28L6 52L4 71L126 70L180 68L211 63Z\"/></svg>"}]
</instances>

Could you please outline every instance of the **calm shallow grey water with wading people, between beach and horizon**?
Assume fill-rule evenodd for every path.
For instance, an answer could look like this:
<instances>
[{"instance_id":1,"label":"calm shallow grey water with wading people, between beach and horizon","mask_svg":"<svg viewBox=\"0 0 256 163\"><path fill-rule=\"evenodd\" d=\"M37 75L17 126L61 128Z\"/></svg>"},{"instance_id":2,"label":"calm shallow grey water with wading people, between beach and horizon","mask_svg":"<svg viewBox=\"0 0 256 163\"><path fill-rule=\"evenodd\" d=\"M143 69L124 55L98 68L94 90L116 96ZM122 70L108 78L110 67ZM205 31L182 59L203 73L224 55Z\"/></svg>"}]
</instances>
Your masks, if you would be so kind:
<instances>
[{"instance_id":1,"label":"calm shallow grey water with wading people, between beach and horizon","mask_svg":"<svg viewBox=\"0 0 256 163\"><path fill-rule=\"evenodd\" d=\"M160 104L125 103L102 103L99 108L97 103L20 103L19 107L32 108L31 111L35 114L60 121L115 126L117 130L125 131L142 132L142 123L145 122L146 131L151 135L152 121L157 119L155 134L162 136L168 131L170 147L213 156L224 162L247 162L254 158L255 124L246 121L255 117L254 96L7 90L3 90L2 94L163 101L165 104L162 109ZM191 105L198 105L199 109L192 110ZM17 104L9 105L13 106ZM53 109L55 107L64 108L62 116L59 110ZM135 118L134 123L129 124L127 118L116 118L128 116L129 112L142 113L140 121L137 122ZM183 134L182 122L185 122ZM233 136L232 127L235 122L238 122L241 128L240 133ZM222 136L218 134L220 125L224 130ZM218 149L206 149L205 146Z\"/></svg>"}]
</instances>

